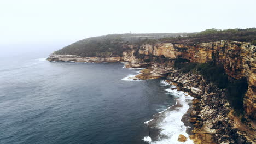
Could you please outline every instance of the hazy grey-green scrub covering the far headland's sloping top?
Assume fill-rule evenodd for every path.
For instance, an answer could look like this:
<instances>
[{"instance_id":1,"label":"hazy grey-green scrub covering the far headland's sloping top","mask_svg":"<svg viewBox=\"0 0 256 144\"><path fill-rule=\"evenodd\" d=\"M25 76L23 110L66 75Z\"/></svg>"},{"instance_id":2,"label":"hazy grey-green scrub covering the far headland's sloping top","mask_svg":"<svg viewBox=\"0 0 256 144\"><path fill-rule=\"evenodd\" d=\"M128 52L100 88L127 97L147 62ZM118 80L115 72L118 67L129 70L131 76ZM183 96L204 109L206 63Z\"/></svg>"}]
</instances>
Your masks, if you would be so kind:
<instances>
[{"instance_id":1,"label":"hazy grey-green scrub covering the far headland's sloping top","mask_svg":"<svg viewBox=\"0 0 256 144\"><path fill-rule=\"evenodd\" d=\"M141 45L147 40L164 37L178 37L195 33L152 33L152 34L108 34L79 40L56 51L59 55L77 55L84 57L122 56L123 44Z\"/></svg>"}]
</instances>

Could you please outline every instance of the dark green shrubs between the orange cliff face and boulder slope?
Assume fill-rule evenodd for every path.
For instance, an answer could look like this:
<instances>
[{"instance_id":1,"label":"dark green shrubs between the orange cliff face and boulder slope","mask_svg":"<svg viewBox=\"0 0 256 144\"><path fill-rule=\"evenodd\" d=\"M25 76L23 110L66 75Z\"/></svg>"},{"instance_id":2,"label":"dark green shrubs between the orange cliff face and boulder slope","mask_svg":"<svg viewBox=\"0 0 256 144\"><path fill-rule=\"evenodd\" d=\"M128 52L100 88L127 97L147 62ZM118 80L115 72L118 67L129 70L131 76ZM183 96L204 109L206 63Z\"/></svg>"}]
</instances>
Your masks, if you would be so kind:
<instances>
[{"instance_id":1,"label":"dark green shrubs between the orange cliff face and boulder slope","mask_svg":"<svg viewBox=\"0 0 256 144\"><path fill-rule=\"evenodd\" d=\"M216 65L213 62L208 63L188 63L184 59L177 59L174 67L183 72L197 71L207 81L217 85L219 88L226 88L226 98L236 112L243 112L243 96L245 95L248 83L245 77L239 80L228 77L225 74L223 65Z\"/></svg>"}]
</instances>

